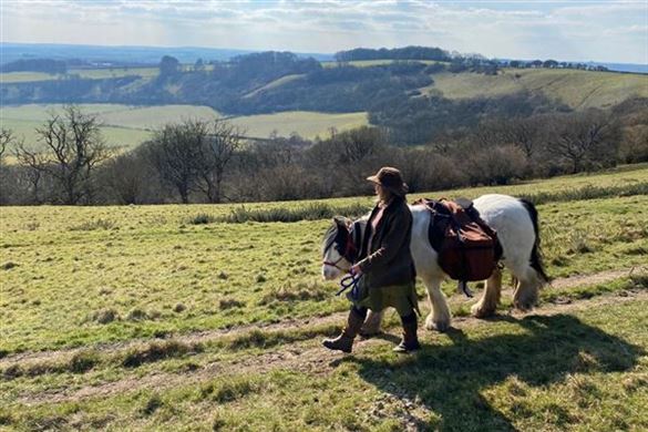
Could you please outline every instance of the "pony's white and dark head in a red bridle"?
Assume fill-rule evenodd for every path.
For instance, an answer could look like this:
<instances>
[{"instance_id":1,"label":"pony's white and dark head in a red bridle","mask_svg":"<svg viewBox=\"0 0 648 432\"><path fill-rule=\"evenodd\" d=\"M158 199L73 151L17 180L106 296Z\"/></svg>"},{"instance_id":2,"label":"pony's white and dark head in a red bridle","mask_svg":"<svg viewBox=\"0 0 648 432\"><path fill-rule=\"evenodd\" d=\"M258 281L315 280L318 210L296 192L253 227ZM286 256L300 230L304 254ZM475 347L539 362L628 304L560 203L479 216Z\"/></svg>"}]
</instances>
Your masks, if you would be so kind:
<instances>
[{"instance_id":1,"label":"pony's white and dark head in a red bridle","mask_svg":"<svg viewBox=\"0 0 648 432\"><path fill-rule=\"evenodd\" d=\"M327 229L322 241L321 274L325 279L336 279L349 271L356 260L357 248L350 232L350 219L333 217L333 225Z\"/></svg>"}]
</instances>

